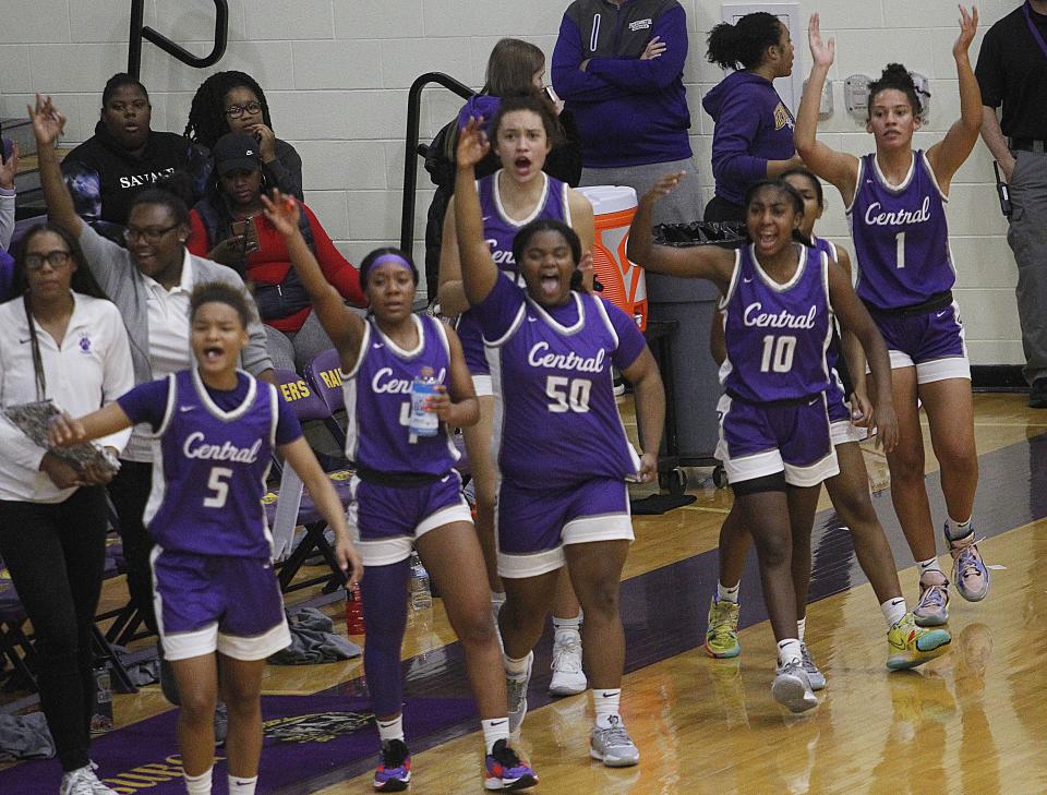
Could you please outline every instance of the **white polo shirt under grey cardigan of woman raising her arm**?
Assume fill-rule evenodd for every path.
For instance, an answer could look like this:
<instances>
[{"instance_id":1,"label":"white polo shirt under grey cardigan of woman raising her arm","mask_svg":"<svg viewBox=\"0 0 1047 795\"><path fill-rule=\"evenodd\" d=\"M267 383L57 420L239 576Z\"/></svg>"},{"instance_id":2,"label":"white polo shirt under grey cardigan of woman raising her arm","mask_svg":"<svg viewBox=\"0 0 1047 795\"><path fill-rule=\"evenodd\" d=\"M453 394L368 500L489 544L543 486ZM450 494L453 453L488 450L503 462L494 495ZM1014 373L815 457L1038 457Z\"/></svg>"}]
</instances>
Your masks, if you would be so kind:
<instances>
[{"instance_id":1,"label":"white polo shirt under grey cardigan of woman raising her arm","mask_svg":"<svg viewBox=\"0 0 1047 795\"><path fill-rule=\"evenodd\" d=\"M146 291L146 311L149 322L149 364L155 380L189 370L193 351L189 341L189 299L193 292L195 274L186 250L182 260L182 276L170 290L156 279L143 276ZM148 424L136 425L128 448L127 461L149 463L153 460L153 431Z\"/></svg>"}]
</instances>

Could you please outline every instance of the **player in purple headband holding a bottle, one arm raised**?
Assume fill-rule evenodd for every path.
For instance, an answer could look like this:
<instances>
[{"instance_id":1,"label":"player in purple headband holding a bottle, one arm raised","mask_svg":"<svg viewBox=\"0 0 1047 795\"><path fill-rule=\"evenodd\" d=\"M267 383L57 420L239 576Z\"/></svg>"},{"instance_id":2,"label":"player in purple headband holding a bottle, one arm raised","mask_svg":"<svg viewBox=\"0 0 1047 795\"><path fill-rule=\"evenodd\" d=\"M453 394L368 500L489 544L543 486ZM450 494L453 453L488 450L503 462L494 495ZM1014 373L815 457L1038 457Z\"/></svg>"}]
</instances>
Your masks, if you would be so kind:
<instances>
[{"instance_id":1,"label":"player in purple headband holding a bottle, one arm raised","mask_svg":"<svg viewBox=\"0 0 1047 795\"><path fill-rule=\"evenodd\" d=\"M368 631L363 665L382 740L374 788L400 792L411 781L400 648L412 546L440 588L465 649L486 749L484 786L533 786L538 775L508 745L505 678L483 553L454 470L458 451L449 429L472 425L479 415L461 344L440 321L411 312L418 269L404 252L377 249L361 263L360 282L371 309L364 320L324 278L299 231L298 206L279 192L264 203L341 360L349 418L346 455L356 463L350 523L368 567L361 583ZM437 381L437 395L429 398L429 411L441 420L434 436L416 436L409 427L411 382L423 369Z\"/></svg>"}]
</instances>

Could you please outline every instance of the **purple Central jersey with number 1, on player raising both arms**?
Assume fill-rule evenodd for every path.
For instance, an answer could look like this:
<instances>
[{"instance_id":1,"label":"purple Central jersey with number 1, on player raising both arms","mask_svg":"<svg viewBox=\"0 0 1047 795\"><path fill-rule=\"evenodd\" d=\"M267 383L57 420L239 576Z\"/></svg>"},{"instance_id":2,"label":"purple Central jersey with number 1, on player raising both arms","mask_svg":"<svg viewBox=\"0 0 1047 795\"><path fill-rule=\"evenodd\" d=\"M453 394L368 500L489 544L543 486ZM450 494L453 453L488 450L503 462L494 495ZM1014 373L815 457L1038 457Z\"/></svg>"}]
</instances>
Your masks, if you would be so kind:
<instances>
[{"instance_id":1,"label":"purple Central jersey with number 1, on player raising both arms","mask_svg":"<svg viewBox=\"0 0 1047 795\"><path fill-rule=\"evenodd\" d=\"M914 306L951 290L956 269L946 224L948 200L923 150L901 185L887 182L876 161L858 161L854 201L847 208L857 267L858 298L882 310Z\"/></svg>"}]
</instances>

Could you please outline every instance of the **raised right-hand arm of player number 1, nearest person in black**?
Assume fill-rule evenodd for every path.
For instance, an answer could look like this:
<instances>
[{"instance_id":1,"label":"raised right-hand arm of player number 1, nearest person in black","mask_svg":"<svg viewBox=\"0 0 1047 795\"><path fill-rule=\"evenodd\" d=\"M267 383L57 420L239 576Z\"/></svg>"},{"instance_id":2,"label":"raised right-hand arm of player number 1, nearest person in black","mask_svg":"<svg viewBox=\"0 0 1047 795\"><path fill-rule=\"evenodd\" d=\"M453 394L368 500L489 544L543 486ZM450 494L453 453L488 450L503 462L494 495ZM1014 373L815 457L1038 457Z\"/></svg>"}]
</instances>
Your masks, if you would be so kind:
<instances>
[{"instance_id":1,"label":"raised right-hand arm of player number 1, nearest person in black","mask_svg":"<svg viewBox=\"0 0 1047 795\"><path fill-rule=\"evenodd\" d=\"M949 192L952 176L963 165L978 140L984 118L982 110L982 89L971 68L971 41L978 32L978 9L971 12L960 7L960 36L952 46L952 57L956 61L956 76L960 79L960 118L953 122L946 137L927 150L927 160L935 171L938 186Z\"/></svg>"}]
</instances>

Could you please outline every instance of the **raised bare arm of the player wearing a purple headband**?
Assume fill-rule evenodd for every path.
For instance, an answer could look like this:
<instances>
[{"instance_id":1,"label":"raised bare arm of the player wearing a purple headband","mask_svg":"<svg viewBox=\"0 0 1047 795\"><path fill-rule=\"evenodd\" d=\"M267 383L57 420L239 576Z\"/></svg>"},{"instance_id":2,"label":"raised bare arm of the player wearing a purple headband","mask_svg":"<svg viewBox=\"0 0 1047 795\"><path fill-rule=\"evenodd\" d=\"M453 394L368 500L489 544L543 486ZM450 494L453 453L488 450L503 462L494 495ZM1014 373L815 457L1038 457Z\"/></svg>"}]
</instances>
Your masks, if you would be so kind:
<instances>
[{"instance_id":1,"label":"raised bare arm of the player wearing a purple headband","mask_svg":"<svg viewBox=\"0 0 1047 795\"><path fill-rule=\"evenodd\" d=\"M298 228L298 203L274 190L272 198L262 196L262 204L265 205L265 217L284 236L291 266L298 272L321 325L338 349L342 370L348 373L356 365L360 353L364 332L363 318L346 306L335 286L324 278L316 257L309 250Z\"/></svg>"}]
</instances>

